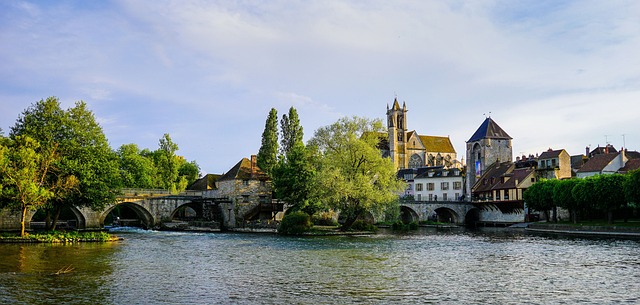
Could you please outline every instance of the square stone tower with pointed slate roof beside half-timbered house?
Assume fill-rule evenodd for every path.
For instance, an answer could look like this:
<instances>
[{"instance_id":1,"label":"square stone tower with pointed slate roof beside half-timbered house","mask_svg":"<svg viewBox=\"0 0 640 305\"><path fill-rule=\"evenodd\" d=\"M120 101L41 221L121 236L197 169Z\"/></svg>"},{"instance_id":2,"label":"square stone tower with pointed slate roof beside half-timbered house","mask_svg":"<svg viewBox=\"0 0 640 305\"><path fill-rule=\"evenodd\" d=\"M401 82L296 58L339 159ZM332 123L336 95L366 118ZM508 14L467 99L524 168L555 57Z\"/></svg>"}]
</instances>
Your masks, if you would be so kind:
<instances>
[{"instance_id":1,"label":"square stone tower with pointed slate roof beside half-timbered house","mask_svg":"<svg viewBox=\"0 0 640 305\"><path fill-rule=\"evenodd\" d=\"M491 117L482 122L467 141L467 194L472 194L471 188L490 165L513 161L511 139Z\"/></svg>"}]
</instances>

